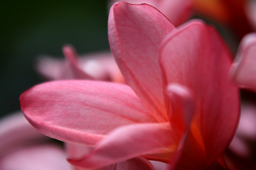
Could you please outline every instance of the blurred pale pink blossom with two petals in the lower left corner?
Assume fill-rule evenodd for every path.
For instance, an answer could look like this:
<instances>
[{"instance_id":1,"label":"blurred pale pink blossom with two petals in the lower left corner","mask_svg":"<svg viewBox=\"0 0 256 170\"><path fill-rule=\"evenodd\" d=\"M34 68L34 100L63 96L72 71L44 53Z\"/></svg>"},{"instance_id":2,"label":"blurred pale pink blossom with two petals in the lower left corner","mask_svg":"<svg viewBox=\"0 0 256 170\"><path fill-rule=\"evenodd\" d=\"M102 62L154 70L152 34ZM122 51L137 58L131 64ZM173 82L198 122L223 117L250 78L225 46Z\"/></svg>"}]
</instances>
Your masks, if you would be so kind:
<instances>
[{"instance_id":1,"label":"blurred pale pink blossom with two petals in the lower left corner","mask_svg":"<svg viewBox=\"0 0 256 170\"><path fill-rule=\"evenodd\" d=\"M65 160L64 149L46 142L28 124L22 113L15 113L0 122L0 169L71 170Z\"/></svg>"}]
</instances>

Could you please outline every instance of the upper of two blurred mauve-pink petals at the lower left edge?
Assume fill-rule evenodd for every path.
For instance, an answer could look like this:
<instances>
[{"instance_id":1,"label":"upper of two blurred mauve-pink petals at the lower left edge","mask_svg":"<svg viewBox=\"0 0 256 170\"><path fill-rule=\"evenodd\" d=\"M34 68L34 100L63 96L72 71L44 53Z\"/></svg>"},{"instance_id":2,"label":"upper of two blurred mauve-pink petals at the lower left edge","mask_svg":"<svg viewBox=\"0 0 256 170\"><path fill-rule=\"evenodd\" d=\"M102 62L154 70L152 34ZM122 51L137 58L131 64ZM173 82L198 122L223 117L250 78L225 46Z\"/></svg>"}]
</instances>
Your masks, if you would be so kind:
<instances>
[{"instance_id":1,"label":"upper of two blurred mauve-pink petals at the lower left edge","mask_svg":"<svg viewBox=\"0 0 256 170\"><path fill-rule=\"evenodd\" d=\"M0 157L21 147L46 142L48 139L50 138L35 130L21 112L0 121Z\"/></svg>"}]
</instances>

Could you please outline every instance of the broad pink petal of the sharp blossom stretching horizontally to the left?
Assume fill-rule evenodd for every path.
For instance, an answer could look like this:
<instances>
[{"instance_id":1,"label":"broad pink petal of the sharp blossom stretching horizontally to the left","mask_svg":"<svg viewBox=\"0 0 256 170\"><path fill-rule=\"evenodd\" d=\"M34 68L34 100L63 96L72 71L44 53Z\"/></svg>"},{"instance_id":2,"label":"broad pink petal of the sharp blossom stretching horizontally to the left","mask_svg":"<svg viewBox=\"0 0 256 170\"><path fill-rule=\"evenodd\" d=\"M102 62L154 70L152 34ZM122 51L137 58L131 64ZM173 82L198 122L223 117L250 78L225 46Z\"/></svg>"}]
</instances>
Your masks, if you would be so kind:
<instances>
[{"instance_id":1,"label":"broad pink petal of the sharp blossom stretching horizontally to the left","mask_svg":"<svg viewBox=\"0 0 256 170\"><path fill-rule=\"evenodd\" d=\"M27 120L43 134L93 145L120 125L156 122L129 86L100 81L52 81L20 98Z\"/></svg>"}]
</instances>

